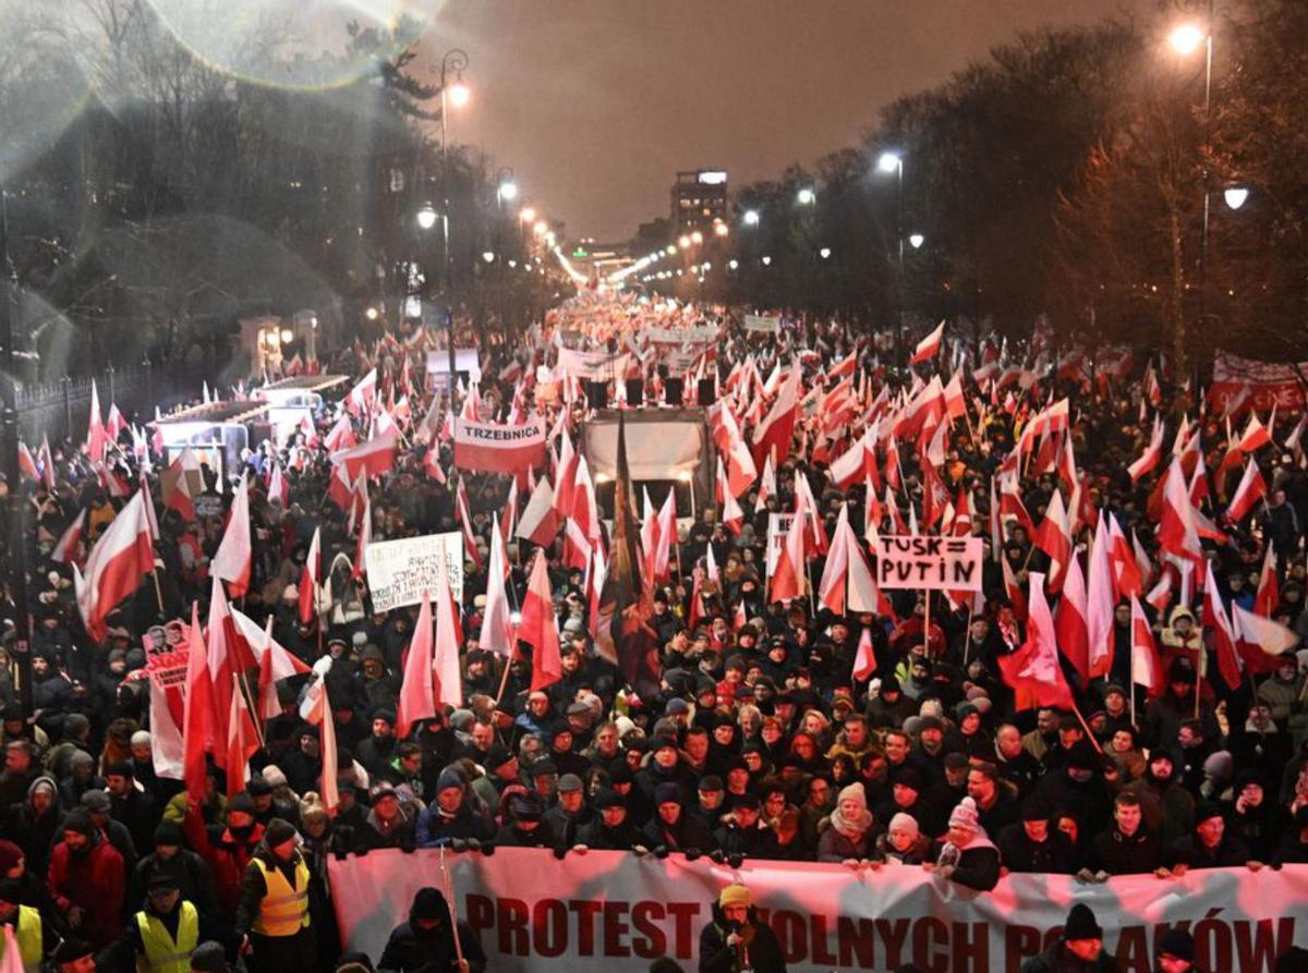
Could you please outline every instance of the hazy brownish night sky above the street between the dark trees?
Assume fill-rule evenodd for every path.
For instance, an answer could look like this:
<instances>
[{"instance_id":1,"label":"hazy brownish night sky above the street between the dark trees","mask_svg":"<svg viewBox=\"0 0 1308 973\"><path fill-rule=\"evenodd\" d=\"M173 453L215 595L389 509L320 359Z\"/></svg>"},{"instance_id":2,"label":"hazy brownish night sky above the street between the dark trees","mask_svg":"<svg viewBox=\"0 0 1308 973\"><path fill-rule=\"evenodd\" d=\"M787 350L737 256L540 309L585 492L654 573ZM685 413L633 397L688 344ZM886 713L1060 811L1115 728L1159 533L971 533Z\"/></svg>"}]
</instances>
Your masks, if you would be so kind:
<instances>
[{"instance_id":1,"label":"hazy brownish night sky above the street between the dark trees","mask_svg":"<svg viewBox=\"0 0 1308 973\"><path fill-rule=\"evenodd\" d=\"M678 169L732 187L811 165L1040 26L1150 20L1152 0L453 0L425 41L468 51L451 139L511 166L570 238L666 216ZM906 162L906 166L910 166Z\"/></svg>"}]
</instances>

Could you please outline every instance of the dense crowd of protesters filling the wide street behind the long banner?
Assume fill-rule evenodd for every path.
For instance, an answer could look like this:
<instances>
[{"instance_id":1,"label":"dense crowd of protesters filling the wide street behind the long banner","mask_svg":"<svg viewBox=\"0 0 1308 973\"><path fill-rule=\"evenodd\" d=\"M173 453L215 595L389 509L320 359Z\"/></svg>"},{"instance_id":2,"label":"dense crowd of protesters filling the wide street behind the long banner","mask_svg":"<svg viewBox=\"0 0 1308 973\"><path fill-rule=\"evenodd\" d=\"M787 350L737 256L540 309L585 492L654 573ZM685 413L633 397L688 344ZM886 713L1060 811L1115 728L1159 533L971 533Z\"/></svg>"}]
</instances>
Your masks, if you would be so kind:
<instances>
[{"instance_id":1,"label":"dense crowd of protesters filling the wide street behind the long banner","mask_svg":"<svg viewBox=\"0 0 1308 973\"><path fill-rule=\"evenodd\" d=\"M420 893L382 956L341 955L327 861L379 849L540 847L559 858L589 850L680 853L736 867L778 859L853 871L893 863L982 892L1010 872L1086 883L1152 874L1165 881L1189 868L1308 862L1300 658L1291 650L1267 664L1247 660L1228 681L1198 586L1173 585L1143 606L1160 647L1163 677L1155 685L1139 683L1127 598L1113 619L1107 671L1084 679L1062 663L1075 708L1031 705L1005 679L1003 659L1028 636L1012 582L1025 590L1031 575L1048 575L1052 558L1032 527L1056 494L1067 501L1070 492L1058 456L1046 463L1033 455L1035 445L1022 468L1007 471L1024 424L1056 399L1070 401L1065 449L1084 492L1082 505L1069 504L1074 549L1086 551L1095 518L1110 513L1135 540L1142 594L1152 591L1171 557L1160 549L1151 513L1167 462L1138 480L1127 467L1148 446L1146 412L1159 409L1155 394L1182 398L1185 377L1168 375L1143 354L1118 364L1110 377L1090 365L1069 374L1053 367L1048 352L1029 348L1012 354L1019 379L1001 386L976 377L998 345L972 349L971 371L961 343L952 356L947 345L934 362L897 370L886 361L884 343L835 323L786 320L780 333L766 335L743 331L721 309L642 314L653 311L594 298L564 306L526 339L488 350L480 383L460 386L453 404L428 387L421 335L356 343L324 369L352 381L375 370L366 408L351 418L344 403L328 400L314 429L247 451L245 469L224 471L226 483L205 466L213 504L203 509L213 515L188 519L167 505L165 458L148 455L143 463L126 433L101 468L77 445L56 445L47 460L54 469L17 485L27 513L34 711L20 704L9 651L18 633L7 598L0 603L7 616L0 921L14 927L26 969L43 961L61 970L127 970L139 963L156 970L222 969L238 957L255 970L483 969L476 936L453 925L453 904L437 888ZM776 379L795 362L806 401L777 455L774 483L760 459L756 479L738 496L743 522L725 521L721 488L718 502L701 502L696 517L680 511L670 577L649 585L647 628L662 670L657 692L638 696L596 651L586 569L565 560L562 540L539 548L555 594L561 675L532 689L530 646L506 659L479 645L493 515L505 518L511 477L463 471L467 514L460 515L460 473L451 468L443 420L466 409L467 396L475 415L496 421L539 408L557 455L562 437L576 438L587 404L566 377L561 394L538 404L538 369L548 375L556 337L581 328L589 347L616 350L629 341L624 328L636 332L642 322L718 326L719 340L712 353L701 349L695 367L697 377L717 379L717 408L738 412L746 441L783 384L764 382L769 371L776 369ZM647 395L657 395L655 349L630 347L633 367L649 378ZM832 375L842 361L852 369ZM863 476L837 486L832 459L878 416L893 417L935 371L943 381L957 375L965 392L964 415L944 418L939 468L926 469L934 466L929 450L908 439L897 447L887 505L876 493L869 498ZM742 373L753 375L744 395ZM846 381L858 407L828 428L819 403ZM1226 504L1244 463L1233 471L1223 466L1230 426L1193 391L1185 421L1198 435L1207 486L1196 509L1219 528L1205 534L1202 556L1220 603L1253 609L1270 585L1275 602L1266 613L1303 636L1308 473L1298 416L1269 421L1270 441L1249 454L1267 496L1232 521ZM344 415L364 441L383 409L404 437L394 468L366 486L371 539L459 530L471 539L459 606L462 705L437 708L403 736L396 706L417 607L373 611L366 573L354 564L357 510L326 498L334 473L328 430ZM1165 416L1173 430L1179 415ZM883 437L880 449L893 442ZM880 464L889 480L884 455ZM323 683L336 761L323 766L319 727L301 717L317 676L297 675L276 684L283 711L260 726L249 781L232 786L233 768L224 772L211 759L204 793L195 794L156 772L152 680L141 677L145 647L152 633L186 624L194 604L207 616L209 564L242 472L254 553L242 611L260 626L271 624L277 642L306 664L332 659ZM77 558L65 560L56 547L84 514L89 549L124 504L115 486L126 483L131 493L143 475L156 504L158 572L109 616L107 636L97 642L78 611L71 565ZM275 475L285 500L269 486ZM1005 517L995 551L988 524L1001 476L1012 477L1029 523ZM955 532L984 540L981 598L933 592L927 607L926 592L884 591L879 611L857 613L833 612L808 594L769 603L772 514L811 496L828 535L842 504L852 523L875 519L865 518L869 502L879 507L874 528L883 532L918 524L938 531L927 510L933 500L923 496L933 479L951 502L967 498L947 517L967 510L968 523L955 523ZM522 505L527 490L513 496ZM904 528L905 521L912 526ZM302 621L300 586L311 583L303 568L315 531L324 577L318 607ZM509 538L508 587L518 606L536 551ZM815 587L820 551L810 572ZM1057 603L1057 594L1050 599ZM324 776L339 793L334 807L324 800ZM747 891L723 896L723 914L748 909ZM1073 919L1097 930L1093 917L1074 913L1067 935ZM732 934L701 944L701 969L740 968L726 935Z\"/></svg>"}]
</instances>

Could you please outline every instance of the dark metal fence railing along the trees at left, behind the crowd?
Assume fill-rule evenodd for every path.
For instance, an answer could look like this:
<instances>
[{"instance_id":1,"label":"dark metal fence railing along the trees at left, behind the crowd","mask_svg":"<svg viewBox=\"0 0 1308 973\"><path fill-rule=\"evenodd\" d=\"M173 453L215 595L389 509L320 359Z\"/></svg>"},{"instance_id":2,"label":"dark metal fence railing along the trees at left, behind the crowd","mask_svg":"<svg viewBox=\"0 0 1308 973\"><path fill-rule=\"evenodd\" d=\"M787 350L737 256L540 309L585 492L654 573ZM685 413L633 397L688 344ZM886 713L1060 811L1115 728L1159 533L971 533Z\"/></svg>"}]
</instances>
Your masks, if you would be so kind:
<instances>
[{"instance_id":1,"label":"dark metal fence railing along the trees at left, behind the crowd","mask_svg":"<svg viewBox=\"0 0 1308 973\"><path fill-rule=\"evenodd\" d=\"M27 383L18 390L18 424L22 438L37 443L42 435L51 441L80 441L90 421L92 381L99 394L99 405L107 416L110 403L128 421L148 422L154 407L167 409L179 401L198 398L204 370L169 362L154 365L144 361L124 369L105 369L94 377L64 375L52 382Z\"/></svg>"}]
</instances>

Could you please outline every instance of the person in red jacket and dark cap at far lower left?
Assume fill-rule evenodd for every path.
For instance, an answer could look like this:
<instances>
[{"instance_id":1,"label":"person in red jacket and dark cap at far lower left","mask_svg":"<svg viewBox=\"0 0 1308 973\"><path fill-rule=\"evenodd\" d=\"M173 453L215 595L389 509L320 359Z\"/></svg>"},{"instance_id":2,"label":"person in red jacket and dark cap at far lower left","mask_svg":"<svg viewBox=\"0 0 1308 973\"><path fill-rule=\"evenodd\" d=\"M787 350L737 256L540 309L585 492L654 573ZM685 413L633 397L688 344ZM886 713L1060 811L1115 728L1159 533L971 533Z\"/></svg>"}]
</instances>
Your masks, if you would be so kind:
<instances>
[{"instance_id":1,"label":"person in red jacket and dark cap at far lower left","mask_svg":"<svg viewBox=\"0 0 1308 973\"><path fill-rule=\"evenodd\" d=\"M63 841L50 853L50 895L72 932L95 948L114 942L127 897L127 870L84 808L68 815Z\"/></svg>"}]
</instances>

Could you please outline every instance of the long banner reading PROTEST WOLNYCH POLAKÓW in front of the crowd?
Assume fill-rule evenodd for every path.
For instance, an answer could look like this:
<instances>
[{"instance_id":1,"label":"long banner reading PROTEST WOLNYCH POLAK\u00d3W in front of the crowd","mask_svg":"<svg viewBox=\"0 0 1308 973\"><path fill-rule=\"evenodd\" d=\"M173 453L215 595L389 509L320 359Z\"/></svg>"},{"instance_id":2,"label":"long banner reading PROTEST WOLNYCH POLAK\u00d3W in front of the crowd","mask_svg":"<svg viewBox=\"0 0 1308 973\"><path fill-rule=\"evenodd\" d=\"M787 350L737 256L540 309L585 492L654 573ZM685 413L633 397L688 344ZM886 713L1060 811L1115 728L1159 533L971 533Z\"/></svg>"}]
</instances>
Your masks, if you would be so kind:
<instances>
[{"instance_id":1,"label":"long banner reading PROTEST WOLNYCH POLAK\u00d3W in front of the crowd","mask_svg":"<svg viewBox=\"0 0 1308 973\"><path fill-rule=\"evenodd\" d=\"M445 854L458 915L471 923L493 970L646 970L668 956L695 969L700 931L718 892L751 889L791 973L892 970L1016 973L1053 943L1073 902L1104 929L1120 969L1155 969L1158 940L1184 923L1202 969L1266 973L1292 944L1308 944L1308 866L1193 870L1083 884L1067 875L1010 875L977 893L917 867L853 872L837 864L747 862L739 872L708 858L659 861L621 851L569 854L501 849L490 858ZM373 851L328 859L347 949L374 960L408 918L413 893L442 887L439 851ZM543 960L555 960L545 964Z\"/></svg>"}]
</instances>

